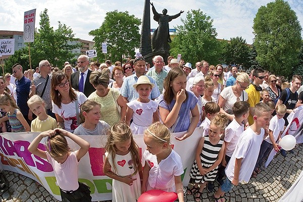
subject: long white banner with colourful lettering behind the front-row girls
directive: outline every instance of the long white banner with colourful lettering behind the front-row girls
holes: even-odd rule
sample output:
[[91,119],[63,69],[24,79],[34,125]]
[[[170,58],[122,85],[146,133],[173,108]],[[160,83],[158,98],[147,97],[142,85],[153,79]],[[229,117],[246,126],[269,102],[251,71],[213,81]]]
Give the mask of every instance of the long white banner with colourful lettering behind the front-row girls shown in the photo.
[[[45,159],[41,159],[29,153],[30,142],[38,135],[37,132],[28,133],[2,133],[0,134],[1,167],[30,177],[39,182],[45,189],[58,200],[61,199],[59,187],[53,167]],[[202,128],[196,128],[194,133],[183,141],[178,141],[175,136],[181,137],[184,132],[173,133],[171,144],[173,149],[180,155],[184,174],[183,185],[187,186],[189,173],[195,158],[195,149],[202,135]],[[88,153],[79,162],[78,179],[90,187],[92,201],[112,199],[112,179],[103,173],[105,145],[107,136],[80,135],[90,143]],[[140,147],[141,157],[146,148],[143,135],[133,135],[134,140]],[[79,146],[67,138],[69,146],[73,150]],[[45,150],[45,139],[39,144],[39,148]],[[144,160],[142,159],[144,165]]]

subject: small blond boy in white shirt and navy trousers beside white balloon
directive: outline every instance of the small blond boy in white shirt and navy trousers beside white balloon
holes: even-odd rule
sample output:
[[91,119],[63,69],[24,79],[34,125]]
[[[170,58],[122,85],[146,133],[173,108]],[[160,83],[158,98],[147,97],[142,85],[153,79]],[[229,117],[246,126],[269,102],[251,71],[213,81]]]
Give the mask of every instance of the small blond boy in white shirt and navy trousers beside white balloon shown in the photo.
[[276,141],[277,139],[281,140],[285,122],[283,117],[286,113],[286,110],[287,108],[284,104],[278,105],[276,108],[277,114],[269,122],[269,136],[267,136],[261,144],[260,153],[256,164],[257,172],[260,171],[260,168],[262,170],[265,170],[265,160],[273,148],[276,151],[279,151]]

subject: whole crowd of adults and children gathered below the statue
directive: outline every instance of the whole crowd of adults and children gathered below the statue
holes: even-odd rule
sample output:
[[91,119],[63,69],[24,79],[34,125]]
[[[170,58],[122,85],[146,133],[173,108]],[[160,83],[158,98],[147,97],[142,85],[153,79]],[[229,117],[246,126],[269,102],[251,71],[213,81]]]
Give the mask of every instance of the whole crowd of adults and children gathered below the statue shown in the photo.
[[[179,201],[184,190],[200,201],[205,187],[214,191],[215,180],[214,198],[225,201],[225,192],[265,170],[272,149],[287,155],[278,140],[287,116],[303,105],[302,78],[293,75],[288,83],[262,68],[246,73],[214,65],[200,61],[192,69],[173,56],[167,65],[161,56],[153,64],[138,56],[112,65],[90,63],[86,55],[63,70],[47,60],[35,72],[15,64],[12,76],[0,77],[0,130],[41,132],[28,149],[52,164],[62,197],[71,201],[80,193],[79,201],[91,200],[88,187],[77,183],[78,162],[89,148],[77,135],[108,135],[104,173],[113,178],[113,201],[136,201],[150,189],[175,191]],[[176,137],[182,141],[196,127],[203,133],[190,171],[193,186],[183,189],[170,136],[184,132]],[[145,165],[132,134],[144,134]],[[46,153],[37,148],[43,137]],[[69,151],[65,137],[80,149]]]

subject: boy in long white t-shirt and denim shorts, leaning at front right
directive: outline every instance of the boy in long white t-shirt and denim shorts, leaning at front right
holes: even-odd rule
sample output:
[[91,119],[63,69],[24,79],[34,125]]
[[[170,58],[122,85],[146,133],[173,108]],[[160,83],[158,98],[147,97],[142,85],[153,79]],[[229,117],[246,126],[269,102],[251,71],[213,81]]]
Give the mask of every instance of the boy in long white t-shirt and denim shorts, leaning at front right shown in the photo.
[[240,181],[249,181],[264,138],[263,128],[269,125],[270,111],[270,107],[264,103],[258,103],[255,106],[252,112],[254,123],[240,135],[234,153],[225,170],[226,179],[214,194],[216,201],[225,201],[225,192],[230,191]]

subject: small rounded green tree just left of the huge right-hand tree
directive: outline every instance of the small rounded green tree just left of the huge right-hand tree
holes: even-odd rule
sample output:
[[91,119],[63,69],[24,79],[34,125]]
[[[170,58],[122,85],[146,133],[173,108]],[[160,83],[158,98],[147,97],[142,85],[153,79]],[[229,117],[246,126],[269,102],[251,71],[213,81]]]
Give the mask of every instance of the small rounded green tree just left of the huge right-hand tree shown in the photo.
[[240,37],[231,38],[223,49],[226,64],[242,65],[249,68],[249,46],[246,40]]

